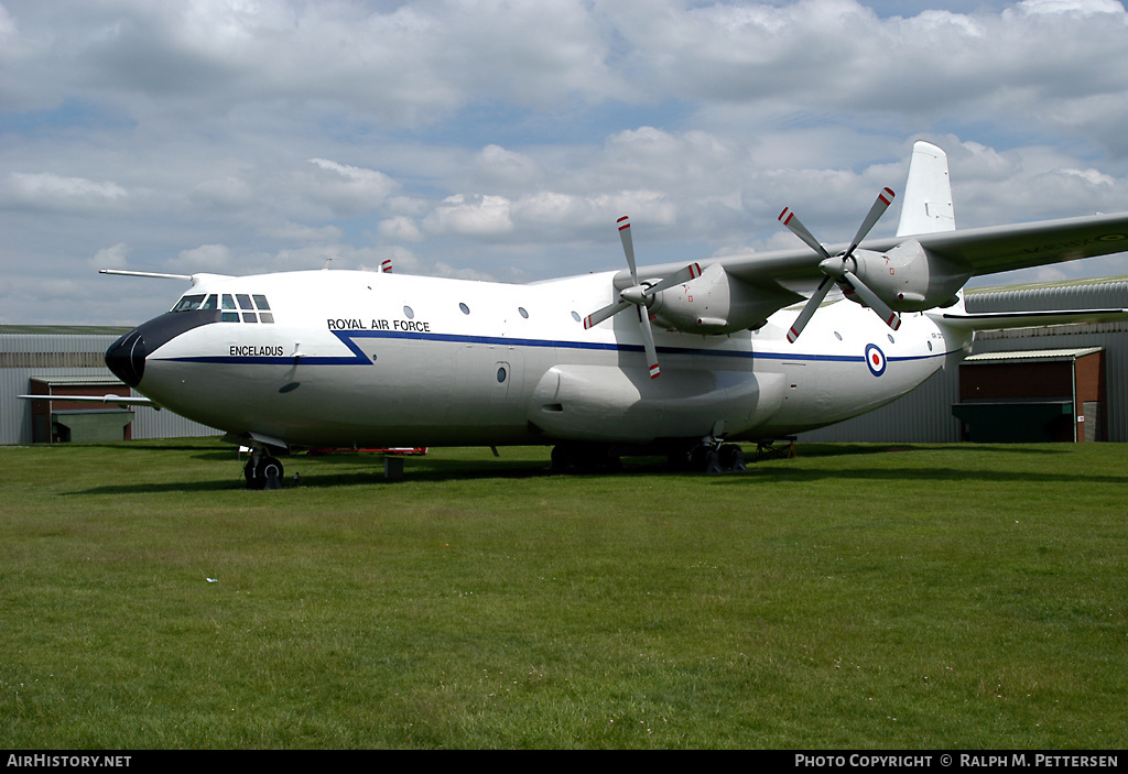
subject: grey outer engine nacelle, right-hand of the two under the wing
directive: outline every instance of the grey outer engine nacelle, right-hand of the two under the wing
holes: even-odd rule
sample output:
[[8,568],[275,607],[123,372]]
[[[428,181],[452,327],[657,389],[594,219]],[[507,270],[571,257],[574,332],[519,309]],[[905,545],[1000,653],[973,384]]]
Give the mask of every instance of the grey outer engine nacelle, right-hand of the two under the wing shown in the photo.
[[[856,250],[854,274],[878,297],[898,312],[923,312],[950,305],[957,291],[971,277],[915,239],[901,242],[889,252]],[[853,294],[847,294],[857,301]]]

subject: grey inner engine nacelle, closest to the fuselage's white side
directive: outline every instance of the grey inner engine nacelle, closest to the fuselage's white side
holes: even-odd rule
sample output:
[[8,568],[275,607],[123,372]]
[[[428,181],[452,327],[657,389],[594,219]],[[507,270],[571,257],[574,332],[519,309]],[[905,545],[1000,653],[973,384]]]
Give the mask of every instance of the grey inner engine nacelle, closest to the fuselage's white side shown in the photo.
[[759,328],[790,302],[791,297],[754,288],[713,264],[696,279],[658,293],[650,313],[659,324],[685,333],[733,333]]

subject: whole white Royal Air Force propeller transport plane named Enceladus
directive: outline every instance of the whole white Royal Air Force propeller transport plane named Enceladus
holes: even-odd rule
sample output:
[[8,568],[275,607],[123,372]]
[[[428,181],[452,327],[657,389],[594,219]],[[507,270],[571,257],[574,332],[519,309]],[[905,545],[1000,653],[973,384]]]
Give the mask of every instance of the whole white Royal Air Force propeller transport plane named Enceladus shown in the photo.
[[897,235],[863,243],[893,197],[879,194],[846,246],[823,247],[784,210],[804,244],[688,265],[636,266],[622,219],[625,270],[527,285],[184,276],[191,290],[106,364],[148,397],[131,402],[248,446],[253,488],[280,478],[277,456],[293,447],[553,445],[554,466],[661,450],[739,469],[732,442],[888,403],[958,362],[976,329],[1123,314],[969,314],[960,290],[1123,251],[1128,213],[955,231],[948,158],[924,142]]

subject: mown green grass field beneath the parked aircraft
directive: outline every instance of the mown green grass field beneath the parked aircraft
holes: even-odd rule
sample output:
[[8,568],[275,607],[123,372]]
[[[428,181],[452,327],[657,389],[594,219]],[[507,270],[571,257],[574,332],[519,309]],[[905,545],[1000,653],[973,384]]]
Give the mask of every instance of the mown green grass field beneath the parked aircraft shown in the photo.
[[0,747],[1128,748],[1128,445],[797,451],[0,447]]

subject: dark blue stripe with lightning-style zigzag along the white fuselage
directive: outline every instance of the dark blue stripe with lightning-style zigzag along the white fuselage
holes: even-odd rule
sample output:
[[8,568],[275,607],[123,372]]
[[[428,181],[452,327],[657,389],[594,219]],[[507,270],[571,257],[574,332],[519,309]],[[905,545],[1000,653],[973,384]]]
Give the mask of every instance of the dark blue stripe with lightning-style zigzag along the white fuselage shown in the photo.
[[[351,356],[312,356],[303,355],[300,358],[301,365],[371,365],[372,361],[361,350],[355,339],[412,339],[416,341],[443,341],[448,344],[484,344],[506,347],[538,347],[556,349],[589,349],[601,352],[629,352],[642,353],[645,348],[641,344],[603,344],[600,341],[561,341],[549,339],[511,339],[497,336],[460,336],[456,333],[417,333],[406,331],[388,330],[334,330],[334,336],[349,347]],[[818,362],[818,363],[864,363],[865,353],[858,355],[810,355],[786,352],[751,352],[740,349],[703,349],[696,347],[658,347],[660,355],[693,355],[706,357],[734,357],[763,361],[792,361],[792,362]],[[934,357],[945,357],[949,353],[929,353],[927,355],[889,356],[890,363],[927,361]],[[210,363],[210,364],[236,364],[236,365],[292,365],[293,355],[258,356],[258,355],[201,355],[187,357],[155,358],[167,359],[174,363]]]

